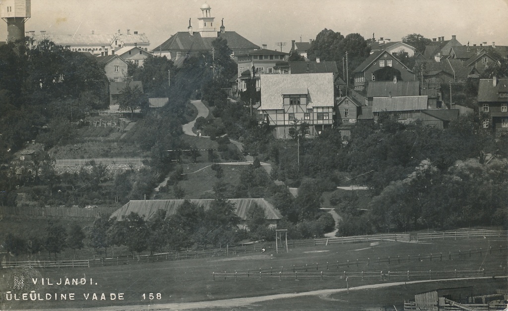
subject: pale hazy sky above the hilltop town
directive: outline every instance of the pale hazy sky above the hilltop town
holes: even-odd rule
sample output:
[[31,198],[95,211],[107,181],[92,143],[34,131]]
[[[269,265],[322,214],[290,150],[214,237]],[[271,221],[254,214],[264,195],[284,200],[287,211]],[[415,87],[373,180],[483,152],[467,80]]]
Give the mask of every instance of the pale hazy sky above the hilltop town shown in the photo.
[[[308,42],[324,28],[364,38],[400,41],[409,33],[432,39],[452,35],[470,42],[508,45],[508,0],[207,0],[211,15],[226,31],[236,31],[252,43],[289,52],[291,41]],[[25,31],[112,34],[118,29],[145,33],[155,48],[189,18],[198,26],[205,0],[31,0]],[[7,39],[7,24],[0,24]]]

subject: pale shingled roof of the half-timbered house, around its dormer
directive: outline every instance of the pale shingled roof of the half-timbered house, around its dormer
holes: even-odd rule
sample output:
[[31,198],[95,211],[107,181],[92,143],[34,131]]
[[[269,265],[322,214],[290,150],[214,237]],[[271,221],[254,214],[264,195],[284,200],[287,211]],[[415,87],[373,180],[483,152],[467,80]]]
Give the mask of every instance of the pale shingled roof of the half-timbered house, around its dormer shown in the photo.
[[334,84],[332,73],[297,75],[260,75],[261,107],[283,109],[282,91],[286,88],[307,89],[307,108],[333,107]]

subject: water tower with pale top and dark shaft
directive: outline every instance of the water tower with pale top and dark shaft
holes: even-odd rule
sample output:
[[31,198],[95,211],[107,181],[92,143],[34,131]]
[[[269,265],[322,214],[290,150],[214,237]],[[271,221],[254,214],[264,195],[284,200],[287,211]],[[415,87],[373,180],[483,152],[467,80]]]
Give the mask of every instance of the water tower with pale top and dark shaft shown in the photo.
[[25,37],[25,21],[30,18],[30,0],[2,0],[0,17],[7,22],[7,41]]

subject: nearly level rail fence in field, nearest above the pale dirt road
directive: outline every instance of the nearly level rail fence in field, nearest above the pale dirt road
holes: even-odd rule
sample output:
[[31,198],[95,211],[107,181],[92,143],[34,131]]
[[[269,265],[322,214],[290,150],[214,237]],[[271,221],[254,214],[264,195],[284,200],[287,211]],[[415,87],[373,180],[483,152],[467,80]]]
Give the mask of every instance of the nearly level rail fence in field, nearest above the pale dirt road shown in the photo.
[[435,280],[456,278],[481,278],[504,276],[505,269],[492,270],[428,270],[428,271],[361,271],[361,272],[298,272],[298,271],[251,271],[251,272],[212,272],[213,281],[234,279],[266,279],[277,278],[281,280],[379,280],[379,281],[403,281],[403,280]]

